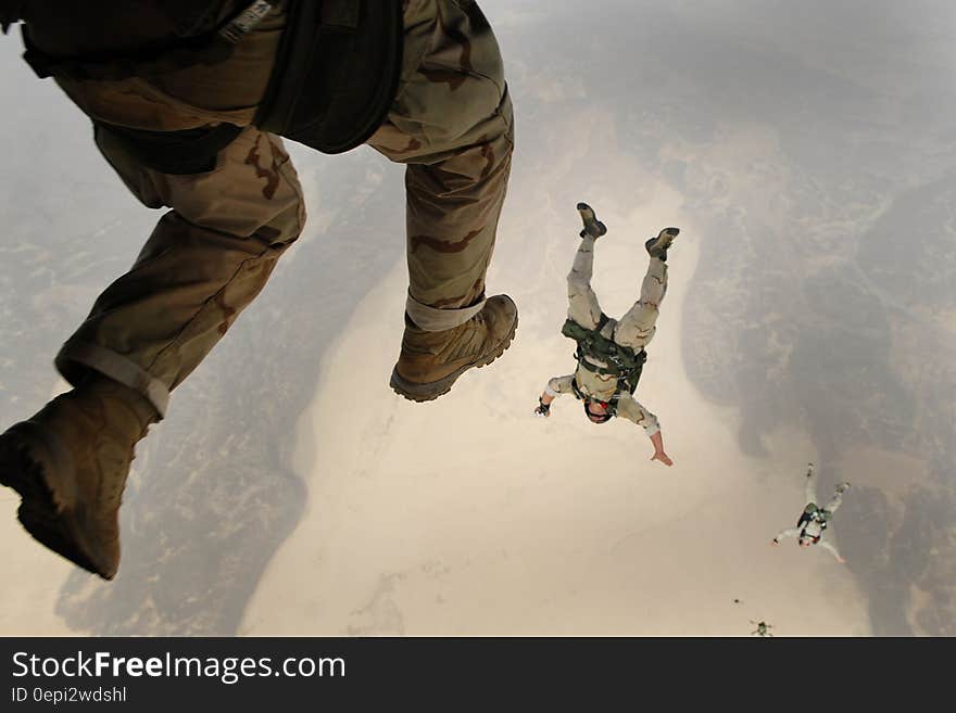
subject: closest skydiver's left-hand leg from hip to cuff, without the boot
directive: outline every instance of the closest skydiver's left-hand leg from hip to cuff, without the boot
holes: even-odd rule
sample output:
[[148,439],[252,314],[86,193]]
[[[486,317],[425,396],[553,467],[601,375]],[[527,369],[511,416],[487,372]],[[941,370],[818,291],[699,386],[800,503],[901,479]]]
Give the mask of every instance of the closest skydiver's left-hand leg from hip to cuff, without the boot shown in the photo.
[[[109,18],[74,13],[64,22],[42,3],[30,10],[38,41],[142,36],[128,13]],[[89,116],[104,125],[151,132],[250,124],[272,74],[286,25],[285,3],[237,43],[224,62],[196,64],[155,77],[116,81],[59,78]],[[97,31],[92,31],[96,29]],[[93,40],[84,40],[93,41]],[[100,40],[97,40],[100,41]],[[42,49],[70,54],[67,47]],[[77,383],[100,372],[146,395],[162,413],[179,384],[265,284],[276,259],[304,221],[302,193],[281,141],[246,128],[218,152],[214,169],[168,175],[143,165],[115,133],[97,130],[97,143],[126,186],[147,206],[172,208],[159,222],[129,272],[97,300],[86,322],[64,345],[56,365]]]

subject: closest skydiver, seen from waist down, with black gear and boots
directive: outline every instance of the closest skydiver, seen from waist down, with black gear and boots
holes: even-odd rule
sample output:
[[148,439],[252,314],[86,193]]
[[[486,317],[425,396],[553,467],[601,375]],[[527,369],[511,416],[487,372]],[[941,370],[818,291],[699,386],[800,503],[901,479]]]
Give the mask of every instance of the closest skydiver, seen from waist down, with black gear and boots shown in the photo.
[[[394,391],[431,400],[507,348],[517,308],[486,298],[485,277],[512,102],[478,3],[0,0],[3,31],[18,21],[33,69],[90,117],[136,198],[167,208],[60,349],[73,389],[0,435],[0,483],[20,494],[20,520],[40,543],[116,574],[137,442],[302,232],[303,191],[280,136],[330,154],[367,143],[406,167]],[[33,151],[9,138],[7,152]]]

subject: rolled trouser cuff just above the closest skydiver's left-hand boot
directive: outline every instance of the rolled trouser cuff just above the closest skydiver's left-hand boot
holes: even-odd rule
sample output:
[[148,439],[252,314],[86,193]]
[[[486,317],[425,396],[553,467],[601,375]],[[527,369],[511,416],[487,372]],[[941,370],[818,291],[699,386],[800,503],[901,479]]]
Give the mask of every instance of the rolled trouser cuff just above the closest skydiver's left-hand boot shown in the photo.
[[92,342],[71,340],[63,345],[53,361],[58,371],[74,386],[92,369],[124,386],[142,394],[156,409],[160,419],[169,406],[169,390],[126,357]]

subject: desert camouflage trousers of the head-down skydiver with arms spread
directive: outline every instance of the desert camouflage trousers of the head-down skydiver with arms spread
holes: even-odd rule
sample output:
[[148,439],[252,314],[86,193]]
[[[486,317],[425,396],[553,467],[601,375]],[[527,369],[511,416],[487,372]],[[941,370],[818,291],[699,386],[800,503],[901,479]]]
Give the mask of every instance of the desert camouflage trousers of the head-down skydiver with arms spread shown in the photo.
[[[591,288],[591,276],[594,270],[594,239],[581,239],[571,271],[568,272],[568,318],[586,329],[594,329],[601,320],[601,305],[598,295]],[[641,296],[627,310],[624,317],[615,322],[608,320],[604,330],[608,339],[621,346],[634,351],[645,347],[656,331],[661,303],[667,294],[667,264],[652,257],[641,282]]]

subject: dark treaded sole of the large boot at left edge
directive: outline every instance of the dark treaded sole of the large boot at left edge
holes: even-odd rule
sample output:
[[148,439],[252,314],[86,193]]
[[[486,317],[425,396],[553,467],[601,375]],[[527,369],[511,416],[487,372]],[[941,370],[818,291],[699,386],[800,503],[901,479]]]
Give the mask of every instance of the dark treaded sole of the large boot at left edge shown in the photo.
[[28,435],[21,443],[13,443],[11,431],[27,430],[24,426],[29,425],[17,424],[0,437],[0,484],[13,488],[22,498],[17,520],[45,547],[92,574],[112,580],[115,571],[96,564],[93,549],[71,511],[56,506],[46,469],[27,455]]

